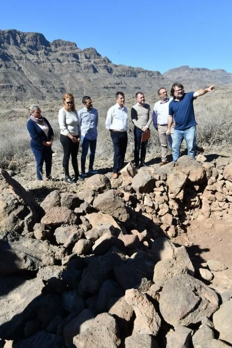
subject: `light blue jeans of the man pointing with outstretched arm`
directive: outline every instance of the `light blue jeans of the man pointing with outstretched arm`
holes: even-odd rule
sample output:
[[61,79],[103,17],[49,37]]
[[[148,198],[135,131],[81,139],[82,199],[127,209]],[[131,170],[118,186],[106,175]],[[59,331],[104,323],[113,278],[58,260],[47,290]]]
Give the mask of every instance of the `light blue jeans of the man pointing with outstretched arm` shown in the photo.
[[186,142],[188,156],[195,159],[195,132],[196,126],[190,127],[185,130],[174,129],[172,140],[172,161],[176,162],[180,157],[180,146],[183,139]]

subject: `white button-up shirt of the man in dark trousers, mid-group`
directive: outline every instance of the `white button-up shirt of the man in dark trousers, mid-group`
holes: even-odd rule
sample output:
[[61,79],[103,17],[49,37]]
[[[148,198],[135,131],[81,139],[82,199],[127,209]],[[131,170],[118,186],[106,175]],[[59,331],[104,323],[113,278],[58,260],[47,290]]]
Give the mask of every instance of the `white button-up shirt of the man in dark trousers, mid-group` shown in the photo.
[[107,112],[105,127],[108,130],[116,130],[118,132],[127,131],[127,108],[123,106],[122,108],[118,103],[111,106]]

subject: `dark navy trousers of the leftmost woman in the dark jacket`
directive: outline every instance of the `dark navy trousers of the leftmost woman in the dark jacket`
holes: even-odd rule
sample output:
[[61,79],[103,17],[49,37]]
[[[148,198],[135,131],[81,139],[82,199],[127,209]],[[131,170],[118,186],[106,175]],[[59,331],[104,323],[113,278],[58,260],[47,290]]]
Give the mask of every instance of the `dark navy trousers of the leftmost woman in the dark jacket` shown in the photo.
[[38,180],[43,179],[43,164],[45,162],[46,177],[51,177],[52,172],[52,148],[44,146],[42,150],[32,149],[36,160],[36,174]]

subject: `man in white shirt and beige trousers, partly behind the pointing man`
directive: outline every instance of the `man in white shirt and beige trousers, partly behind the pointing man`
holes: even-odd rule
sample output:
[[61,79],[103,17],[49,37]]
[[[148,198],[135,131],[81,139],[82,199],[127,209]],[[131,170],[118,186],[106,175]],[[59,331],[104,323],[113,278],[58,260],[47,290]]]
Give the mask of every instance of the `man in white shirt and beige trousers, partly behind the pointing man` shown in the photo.
[[[153,110],[153,124],[155,129],[158,131],[159,141],[161,145],[161,162],[160,166],[167,163],[167,146],[171,148],[172,145],[172,134],[174,131],[174,123],[170,128],[170,135],[167,136],[167,119],[168,119],[168,107],[172,99],[168,98],[166,88],[161,87],[158,89],[158,96],[160,98],[154,105]],[[168,137],[168,139],[167,139]]]

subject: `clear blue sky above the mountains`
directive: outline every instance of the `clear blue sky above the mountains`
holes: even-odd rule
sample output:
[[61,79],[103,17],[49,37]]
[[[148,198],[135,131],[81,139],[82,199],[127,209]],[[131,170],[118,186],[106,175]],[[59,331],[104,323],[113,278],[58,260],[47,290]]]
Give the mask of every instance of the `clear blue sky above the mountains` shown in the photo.
[[94,47],[115,64],[232,73],[232,0],[1,0],[0,29]]

